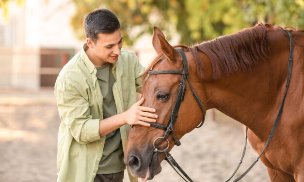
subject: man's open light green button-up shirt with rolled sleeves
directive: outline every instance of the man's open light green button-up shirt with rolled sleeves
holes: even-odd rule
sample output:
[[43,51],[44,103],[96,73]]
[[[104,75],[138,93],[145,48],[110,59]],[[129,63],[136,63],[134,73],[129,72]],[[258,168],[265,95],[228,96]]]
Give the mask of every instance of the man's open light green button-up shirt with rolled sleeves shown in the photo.
[[[60,72],[55,83],[55,96],[61,119],[58,133],[58,182],[93,182],[102,156],[106,136],[99,136],[99,120],[103,119],[103,96],[96,77],[96,68],[81,51]],[[116,79],[113,96],[117,113],[136,102],[136,91],[142,87],[144,67],[135,54],[121,49],[113,64]],[[119,128],[123,151],[130,125]],[[129,171],[131,182],[137,182]]]

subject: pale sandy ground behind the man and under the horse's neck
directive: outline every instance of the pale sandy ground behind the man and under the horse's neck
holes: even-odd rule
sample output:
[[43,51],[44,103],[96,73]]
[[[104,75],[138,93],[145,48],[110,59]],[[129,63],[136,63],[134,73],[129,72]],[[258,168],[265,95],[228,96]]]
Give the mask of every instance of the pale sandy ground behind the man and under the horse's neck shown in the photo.
[[[0,90],[0,182],[55,182],[60,119],[52,90]],[[194,182],[224,182],[244,145],[241,124],[216,112],[181,139],[172,155]],[[239,176],[256,159],[248,146]],[[125,178],[124,182],[128,182]],[[182,182],[166,163],[151,182]],[[259,161],[240,182],[270,182]]]

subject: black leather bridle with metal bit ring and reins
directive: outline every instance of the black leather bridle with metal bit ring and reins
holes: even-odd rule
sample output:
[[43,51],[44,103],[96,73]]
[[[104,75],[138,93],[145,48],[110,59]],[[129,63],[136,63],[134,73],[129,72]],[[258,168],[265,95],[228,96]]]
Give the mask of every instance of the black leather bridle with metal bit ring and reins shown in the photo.
[[[280,116],[282,114],[282,110],[283,110],[283,106],[284,106],[284,102],[285,102],[285,97],[286,97],[286,93],[287,93],[287,89],[288,89],[288,85],[289,85],[289,80],[290,80],[290,75],[291,75],[291,67],[292,67],[292,61],[293,61],[293,39],[292,39],[292,36],[291,34],[288,32],[288,30],[284,30],[287,32],[288,36],[289,36],[289,40],[290,40],[290,50],[289,50],[289,59],[288,59],[288,74],[287,74],[287,83],[286,83],[286,89],[285,89],[285,93],[284,93],[284,97],[283,97],[283,100],[282,100],[282,103],[281,103],[281,106],[279,108],[279,112],[276,116],[276,119],[273,123],[273,126],[272,126],[272,131],[271,131],[271,134],[269,135],[268,137],[268,140],[266,142],[266,145],[263,149],[263,151],[260,153],[260,155],[257,157],[257,159],[254,161],[254,163],[242,174],[240,175],[240,177],[238,177],[237,179],[234,180],[234,182],[237,182],[239,181],[242,177],[244,177],[249,171],[250,169],[256,164],[256,162],[259,160],[259,158],[261,157],[261,155],[263,154],[263,152],[266,150],[267,146],[269,145],[271,139],[272,139],[272,136],[273,136],[273,133],[276,129],[276,126],[278,124],[278,121],[280,119]],[[180,84],[178,86],[178,90],[177,90],[177,96],[176,96],[176,101],[175,101],[175,104],[174,104],[174,107],[172,109],[172,112],[171,112],[171,117],[167,123],[167,125],[163,125],[163,124],[159,124],[159,123],[154,123],[154,122],[148,122],[150,123],[151,126],[153,127],[156,127],[156,128],[160,128],[162,130],[165,131],[165,134],[164,136],[160,136],[160,137],[157,137],[154,142],[153,142],[153,147],[154,147],[154,152],[164,152],[166,157],[165,157],[165,160],[171,165],[171,167],[173,167],[173,169],[177,172],[176,168],[184,175],[185,178],[187,178],[190,182],[193,182],[192,179],[186,174],[186,172],[181,168],[179,167],[179,165],[177,164],[177,162],[174,160],[174,158],[172,157],[172,155],[167,151],[167,149],[169,148],[170,146],[170,143],[169,143],[169,140],[168,140],[168,136],[171,135],[175,141],[175,144],[177,146],[180,145],[180,141],[179,139],[173,134],[173,131],[174,131],[174,124],[176,122],[176,118],[177,118],[177,114],[178,114],[178,110],[179,110],[179,107],[181,105],[181,102],[184,100],[184,96],[185,96],[185,92],[186,92],[186,80],[188,81],[189,83],[189,86],[191,88],[191,91],[193,93],[193,96],[195,98],[195,100],[197,101],[202,113],[203,113],[203,120],[202,122],[199,124],[198,127],[201,127],[203,124],[204,124],[204,121],[205,121],[205,113],[204,113],[204,110],[203,110],[203,107],[205,107],[205,105],[202,103],[202,101],[200,100],[200,98],[197,96],[197,94],[195,93],[195,91],[193,90],[192,88],[192,85],[191,85],[191,82],[190,82],[190,79],[189,79],[189,73],[188,73],[188,62],[187,62],[187,58],[185,56],[185,53],[179,49],[179,48],[176,48],[176,50],[181,54],[182,56],[182,59],[183,59],[183,71],[177,71],[177,70],[157,70],[157,71],[152,71],[152,70],[149,70],[148,73],[149,75],[158,75],[158,74],[179,74],[179,75],[182,75],[182,78],[181,78],[181,81],[180,81]],[[197,128],[198,128],[197,127]],[[235,173],[237,172],[237,170],[239,169],[240,167],[240,164],[242,163],[242,160],[243,160],[243,157],[245,155],[245,151],[246,151],[246,145],[247,145],[247,131],[248,131],[248,128],[246,127],[246,137],[245,137],[245,146],[244,146],[244,149],[243,149],[243,154],[241,156],[241,159],[240,159],[240,162],[239,162],[239,165],[238,167],[235,169],[235,171],[233,172],[233,174],[229,177],[228,180],[226,180],[225,182],[228,182],[232,179],[232,177],[235,175]],[[163,149],[163,150],[159,150],[158,148],[155,147],[155,142],[156,140],[158,139],[163,139],[163,140],[166,140],[168,142],[168,146],[167,148]],[[176,167],[176,168],[175,168]],[[183,178],[181,176],[181,174],[179,174],[177,172],[177,174],[183,179],[186,181],[185,178]],[[187,181],[186,181],[187,182]]]

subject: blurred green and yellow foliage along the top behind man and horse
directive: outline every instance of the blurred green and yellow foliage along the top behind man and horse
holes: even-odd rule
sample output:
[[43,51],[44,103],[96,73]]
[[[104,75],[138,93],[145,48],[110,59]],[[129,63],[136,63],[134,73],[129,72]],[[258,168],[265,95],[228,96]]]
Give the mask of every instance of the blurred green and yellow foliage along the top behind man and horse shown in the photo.
[[142,34],[163,30],[168,39],[181,35],[181,44],[191,45],[231,34],[257,22],[304,27],[303,0],[73,0],[77,11],[71,24],[77,37],[85,38],[84,16],[108,8],[121,22],[124,43],[132,45]]

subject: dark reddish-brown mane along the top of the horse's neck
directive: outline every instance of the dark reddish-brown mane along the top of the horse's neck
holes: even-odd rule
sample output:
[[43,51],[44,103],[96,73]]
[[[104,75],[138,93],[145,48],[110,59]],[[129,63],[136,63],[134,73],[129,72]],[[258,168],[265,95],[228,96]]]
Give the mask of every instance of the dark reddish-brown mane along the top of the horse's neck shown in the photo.
[[199,61],[197,51],[205,53],[210,59],[215,79],[237,71],[251,70],[267,58],[270,50],[266,33],[267,30],[276,29],[283,30],[271,24],[258,23],[253,28],[189,47],[196,60],[198,75],[203,78],[202,62]]

